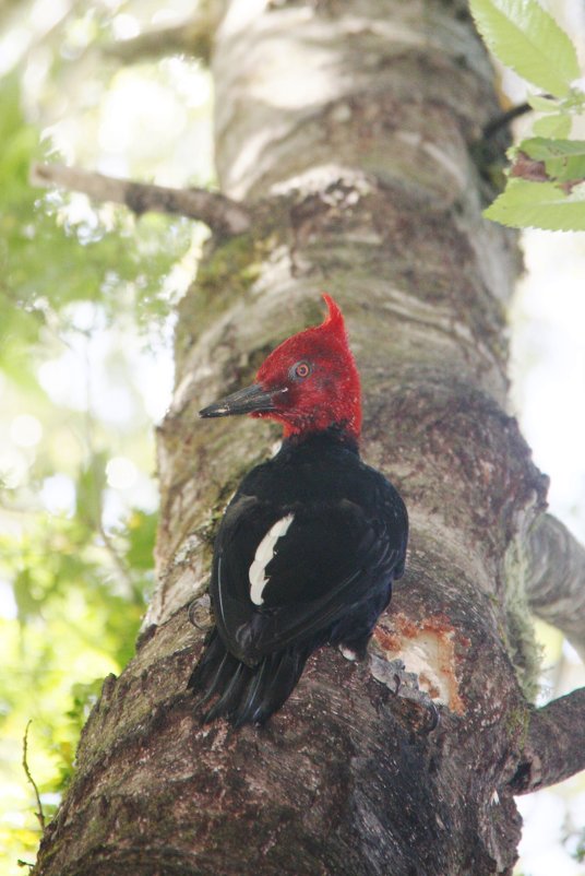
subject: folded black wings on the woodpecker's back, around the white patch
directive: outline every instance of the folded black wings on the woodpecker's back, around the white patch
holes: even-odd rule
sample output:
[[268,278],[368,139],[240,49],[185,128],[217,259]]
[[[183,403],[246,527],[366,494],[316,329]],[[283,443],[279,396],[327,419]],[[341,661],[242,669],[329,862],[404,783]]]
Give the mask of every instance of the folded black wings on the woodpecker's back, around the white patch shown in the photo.
[[[283,506],[235,497],[218,533],[211,585],[219,635],[235,656],[255,665],[290,644],[312,650],[370,635],[406,548],[404,506],[378,477],[392,494],[375,490],[367,507],[345,498]],[[264,559],[272,558],[253,600],[256,551],[284,519],[286,532],[264,549]]]

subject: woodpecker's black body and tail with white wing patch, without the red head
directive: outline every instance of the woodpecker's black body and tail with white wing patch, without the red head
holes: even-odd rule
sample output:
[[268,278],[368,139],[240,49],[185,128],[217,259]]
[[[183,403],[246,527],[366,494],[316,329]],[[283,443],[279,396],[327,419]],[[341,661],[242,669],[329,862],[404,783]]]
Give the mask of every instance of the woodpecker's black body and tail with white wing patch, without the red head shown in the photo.
[[216,627],[189,682],[202,719],[263,723],[317,648],[360,655],[404,571],[407,535],[402,498],[351,437],[286,439],[244,477],[217,533]]

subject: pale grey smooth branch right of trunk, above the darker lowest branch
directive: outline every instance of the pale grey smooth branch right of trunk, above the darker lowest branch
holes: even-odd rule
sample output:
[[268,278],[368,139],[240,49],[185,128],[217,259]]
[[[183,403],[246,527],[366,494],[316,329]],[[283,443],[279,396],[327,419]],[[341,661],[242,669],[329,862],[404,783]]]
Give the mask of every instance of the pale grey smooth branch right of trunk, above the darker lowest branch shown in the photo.
[[532,611],[564,632],[585,661],[585,547],[551,514],[528,534]]

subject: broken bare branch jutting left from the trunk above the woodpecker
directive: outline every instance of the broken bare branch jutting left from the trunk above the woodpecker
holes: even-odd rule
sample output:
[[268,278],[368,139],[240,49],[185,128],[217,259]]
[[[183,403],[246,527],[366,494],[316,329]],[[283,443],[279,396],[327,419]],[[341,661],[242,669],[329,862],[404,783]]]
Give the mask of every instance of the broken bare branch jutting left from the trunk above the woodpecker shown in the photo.
[[206,189],[170,189],[148,182],[117,179],[62,164],[34,164],[33,186],[61,186],[82,191],[96,201],[126,204],[136,215],[154,210],[204,222],[218,236],[230,237],[248,230],[249,211],[237,201]]

